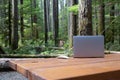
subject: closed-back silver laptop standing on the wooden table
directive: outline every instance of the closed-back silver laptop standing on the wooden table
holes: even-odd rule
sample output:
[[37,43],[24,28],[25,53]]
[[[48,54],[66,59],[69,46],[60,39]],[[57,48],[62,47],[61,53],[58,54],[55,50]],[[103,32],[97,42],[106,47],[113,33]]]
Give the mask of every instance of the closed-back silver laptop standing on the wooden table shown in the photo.
[[73,36],[74,57],[104,57],[103,36]]

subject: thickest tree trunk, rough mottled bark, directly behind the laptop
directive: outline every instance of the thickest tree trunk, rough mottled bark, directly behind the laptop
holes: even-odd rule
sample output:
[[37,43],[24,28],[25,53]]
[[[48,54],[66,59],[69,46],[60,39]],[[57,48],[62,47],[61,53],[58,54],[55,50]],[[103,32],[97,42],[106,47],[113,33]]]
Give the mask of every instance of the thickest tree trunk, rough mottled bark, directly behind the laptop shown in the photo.
[[79,34],[92,35],[92,0],[79,1]]

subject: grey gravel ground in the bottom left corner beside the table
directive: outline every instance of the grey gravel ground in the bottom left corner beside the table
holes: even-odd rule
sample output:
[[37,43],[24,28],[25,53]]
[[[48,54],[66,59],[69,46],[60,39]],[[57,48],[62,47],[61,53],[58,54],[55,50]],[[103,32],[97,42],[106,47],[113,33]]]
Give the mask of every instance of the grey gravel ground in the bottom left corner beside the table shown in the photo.
[[28,80],[16,71],[0,72],[0,80]]

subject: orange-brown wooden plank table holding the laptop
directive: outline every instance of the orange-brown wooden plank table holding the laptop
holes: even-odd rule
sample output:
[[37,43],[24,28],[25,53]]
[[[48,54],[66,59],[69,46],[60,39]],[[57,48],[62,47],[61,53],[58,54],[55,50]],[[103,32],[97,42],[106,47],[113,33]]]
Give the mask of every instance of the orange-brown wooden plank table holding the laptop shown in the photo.
[[104,58],[34,58],[10,60],[29,80],[120,80],[120,54]]

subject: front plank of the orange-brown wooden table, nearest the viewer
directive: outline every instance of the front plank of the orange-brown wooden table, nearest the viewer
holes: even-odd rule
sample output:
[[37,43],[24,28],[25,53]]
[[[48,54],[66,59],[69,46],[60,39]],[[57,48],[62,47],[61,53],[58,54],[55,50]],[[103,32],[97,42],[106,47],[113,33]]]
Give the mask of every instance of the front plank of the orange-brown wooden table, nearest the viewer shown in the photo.
[[40,80],[40,79],[58,80],[58,79],[78,78],[78,77],[80,79],[82,76],[96,75],[96,74],[101,75],[103,73],[112,72],[112,71],[115,72],[119,70],[120,70],[120,61],[117,64],[114,64],[114,62],[109,62],[109,63],[95,63],[94,65],[86,64],[83,66],[74,65],[74,66],[63,66],[63,67],[61,66],[54,68],[32,69],[29,70],[30,72],[29,74],[32,74],[31,75],[32,77],[30,76],[31,80]]

